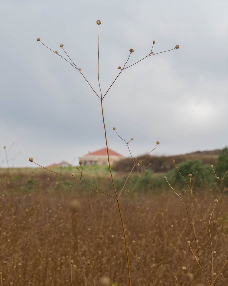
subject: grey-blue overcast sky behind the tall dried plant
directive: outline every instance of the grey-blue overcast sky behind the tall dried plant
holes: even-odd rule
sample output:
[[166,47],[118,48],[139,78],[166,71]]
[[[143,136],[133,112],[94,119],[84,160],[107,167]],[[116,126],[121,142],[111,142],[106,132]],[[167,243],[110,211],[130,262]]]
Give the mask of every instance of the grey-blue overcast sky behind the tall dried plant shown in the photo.
[[[109,147],[128,156],[156,145],[154,155],[213,150],[227,145],[227,1],[1,1],[1,152],[10,166],[76,164],[105,147],[101,106],[80,73],[36,41],[63,52],[98,92]],[[1,153],[1,162],[4,152]],[[3,164],[2,166],[6,166]]]

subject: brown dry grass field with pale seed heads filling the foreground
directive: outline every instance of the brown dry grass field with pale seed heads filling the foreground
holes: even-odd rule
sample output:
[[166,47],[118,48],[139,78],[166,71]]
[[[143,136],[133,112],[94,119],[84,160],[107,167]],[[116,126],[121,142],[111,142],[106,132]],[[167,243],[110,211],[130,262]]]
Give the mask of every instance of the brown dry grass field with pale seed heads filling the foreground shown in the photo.
[[[96,180],[99,184],[101,178]],[[104,176],[102,186],[112,194],[109,178]],[[200,204],[211,186],[202,183],[193,187]],[[131,196],[127,189],[120,205],[130,250],[132,285],[209,285],[187,244],[191,241],[196,253],[194,235],[180,198],[168,185],[144,194],[136,188]],[[176,190],[181,192],[181,186],[176,186]],[[202,208],[209,236],[209,218],[214,200],[218,199],[210,223],[216,274],[227,261],[226,192],[220,180]],[[185,195],[192,222],[191,194],[187,188]],[[11,170],[10,184],[7,170],[2,169],[0,208],[1,285],[128,284],[123,229],[112,198],[90,186],[85,188],[82,182],[40,168]],[[196,202],[194,220],[200,265],[212,285],[211,250]],[[216,230],[222,237],[217,235],[213,220],[217,220]],[[170,225],[174,228],[170,229]],[[227,265],[223,271],[226,269]],[[109,277],[110,282],[105,282],[104,277]],[[227,283],[226,271],[214,285]]]

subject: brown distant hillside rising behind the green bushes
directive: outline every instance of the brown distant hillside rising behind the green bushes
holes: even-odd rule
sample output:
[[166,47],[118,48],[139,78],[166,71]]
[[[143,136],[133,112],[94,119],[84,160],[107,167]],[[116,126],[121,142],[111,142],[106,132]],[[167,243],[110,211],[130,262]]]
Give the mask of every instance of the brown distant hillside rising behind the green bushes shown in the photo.
[[[203,164],[216,164],[220,149],[212,150],[212,151],[196,151],[183,155],[173,155],[173,156],[148,156],[146,160],[143,161],[143,165],[147,166],[151,164],[150,168],[154,170],[154,172],[168,172],[170,171],[174,165],[172,164],[172,159],[176,160],[176,163],[184,162],[187,160],[196,160],[200,159]],[[143,154],[141,156],[135,157],[135,162],[139,162],[146,157],[147,154]],[[117,162],[113,166],[113,170],[115,171],[130,171],[132,168],[132,158],[126,158],[119,162]]]

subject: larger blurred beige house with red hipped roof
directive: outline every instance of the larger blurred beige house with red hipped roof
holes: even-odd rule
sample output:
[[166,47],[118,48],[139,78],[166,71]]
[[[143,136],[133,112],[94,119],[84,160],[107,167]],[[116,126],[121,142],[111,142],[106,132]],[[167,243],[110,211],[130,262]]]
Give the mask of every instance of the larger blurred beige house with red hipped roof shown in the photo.
[[[125,157],[121,154],[109,149],[109,160],[110,164],[117,162]],[[79,158],[82,160],[83,164],[88,165],[108,165],[108,154],[107,148],[102,148],[95,152],[89,152],[88,154],[84,155],[83,157]]]

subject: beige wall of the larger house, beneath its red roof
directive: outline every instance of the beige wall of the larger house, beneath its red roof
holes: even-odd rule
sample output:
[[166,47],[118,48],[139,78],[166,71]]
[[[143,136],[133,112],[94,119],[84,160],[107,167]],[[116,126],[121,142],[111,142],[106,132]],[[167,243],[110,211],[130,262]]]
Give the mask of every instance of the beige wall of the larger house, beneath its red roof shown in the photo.
[[[114,162],[117,162],[124,157],[121,156],[109,156],[110,164],[113,164]],[[83,164],[85,166],[89,165],[108,165],[108,157],[107,156],[101,156],[101,155],[87,155],[84,157],[79,158],[82,160]]]

